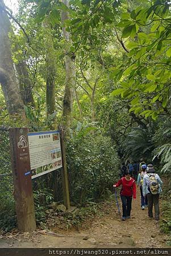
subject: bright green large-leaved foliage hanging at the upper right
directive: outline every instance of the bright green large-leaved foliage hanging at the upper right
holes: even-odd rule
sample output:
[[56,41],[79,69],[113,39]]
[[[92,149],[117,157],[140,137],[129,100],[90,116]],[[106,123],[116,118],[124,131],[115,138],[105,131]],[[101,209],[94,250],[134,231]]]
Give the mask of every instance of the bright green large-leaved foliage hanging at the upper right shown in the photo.
[[123,13],[118,23],[123,27],[122,37],[129,37],[130,52],[126,65],[120,64],[123,82],[111,95],[135,98],[130,111],[156,120],[170,105],[170,11],[162,1],[143,4],[145,8],[137,7],[131,15]]

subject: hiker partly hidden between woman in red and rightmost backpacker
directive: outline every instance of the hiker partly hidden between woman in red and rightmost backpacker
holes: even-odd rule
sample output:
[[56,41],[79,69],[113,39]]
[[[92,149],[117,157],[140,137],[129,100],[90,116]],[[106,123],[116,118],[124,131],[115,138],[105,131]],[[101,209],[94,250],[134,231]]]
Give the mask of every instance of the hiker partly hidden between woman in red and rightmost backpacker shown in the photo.
[[147,166],[143,164],[141,166],[141,173],[137,176],[137,187],[140,187],[141,193],[141,209],[144,210],[145,207],[148,207],[148,200],[147,200],[147,191],[145,192],[145,197],[143,196],[143,178],[146,172]]

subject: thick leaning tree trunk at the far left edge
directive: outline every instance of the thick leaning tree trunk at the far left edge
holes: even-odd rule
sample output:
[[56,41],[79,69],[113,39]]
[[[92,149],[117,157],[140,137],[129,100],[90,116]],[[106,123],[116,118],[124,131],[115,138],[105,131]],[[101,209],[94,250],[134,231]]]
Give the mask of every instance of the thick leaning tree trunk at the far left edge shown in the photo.
[[24,105],[16,83],[8,36],[10,20],[3,9],[4,3],[3,0],[0,0],[0,83],[9,114],[17,114],[20,117],[24,117]]

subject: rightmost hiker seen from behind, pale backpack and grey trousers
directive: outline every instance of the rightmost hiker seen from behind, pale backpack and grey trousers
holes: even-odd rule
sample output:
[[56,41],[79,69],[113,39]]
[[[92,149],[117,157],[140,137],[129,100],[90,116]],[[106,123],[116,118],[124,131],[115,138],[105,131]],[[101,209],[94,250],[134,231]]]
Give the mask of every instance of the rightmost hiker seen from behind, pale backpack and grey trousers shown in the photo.
[[155,220],[159,220],[159,195],[161,193],[162,181],[158,174],[155,173],[155,169],[152,164],[147,166],[147,174],[143,179],[143,195],[147,194],[148,199],[148,216],[153,217],[153,204],[155,207]]

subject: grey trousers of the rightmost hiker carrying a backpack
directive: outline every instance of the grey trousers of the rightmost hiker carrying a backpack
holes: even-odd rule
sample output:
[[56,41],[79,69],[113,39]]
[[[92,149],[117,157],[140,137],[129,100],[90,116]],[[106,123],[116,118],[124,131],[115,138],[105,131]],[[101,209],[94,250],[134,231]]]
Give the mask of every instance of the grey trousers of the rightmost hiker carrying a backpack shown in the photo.
[[155,218],[159,220],[159,194],[152,195],[151,193],[147,194],[148,199],[148,216],[153,217],[153,204],[155,207]]

